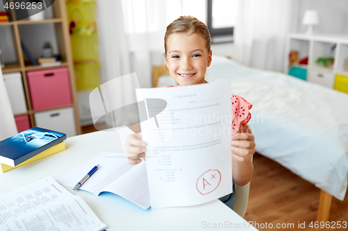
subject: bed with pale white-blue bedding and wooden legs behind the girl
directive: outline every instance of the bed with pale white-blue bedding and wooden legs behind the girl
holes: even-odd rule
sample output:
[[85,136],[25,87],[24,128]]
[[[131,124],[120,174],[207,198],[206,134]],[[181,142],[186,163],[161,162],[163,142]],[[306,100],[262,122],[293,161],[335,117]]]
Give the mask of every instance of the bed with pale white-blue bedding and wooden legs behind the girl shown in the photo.
[[[153,70],[154,86],[175,84],[166,67]],[[317,220],[328,221],[332,196],[347,191],[348,94],[213,56],[206,80],[226,79],[253,104],[255,151],[321,189]]]

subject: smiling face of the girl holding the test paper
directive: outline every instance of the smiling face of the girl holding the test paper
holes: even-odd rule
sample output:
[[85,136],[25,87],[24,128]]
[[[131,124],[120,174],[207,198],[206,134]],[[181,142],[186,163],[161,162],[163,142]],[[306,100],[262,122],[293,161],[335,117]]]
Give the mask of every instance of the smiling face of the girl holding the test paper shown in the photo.
[[167,40],[166,65],[169,74],[181,86],[205,83],[205,72],[212,63],[202,35],[173,33]]

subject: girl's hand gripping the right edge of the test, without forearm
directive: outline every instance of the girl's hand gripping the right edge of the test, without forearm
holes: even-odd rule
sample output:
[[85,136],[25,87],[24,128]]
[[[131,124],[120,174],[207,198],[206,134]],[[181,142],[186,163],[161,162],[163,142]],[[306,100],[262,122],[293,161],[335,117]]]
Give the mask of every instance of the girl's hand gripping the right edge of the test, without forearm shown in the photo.
[[254,135],[249,132],[232,135],[231,150],[235,160],[250,161],[255,153]]

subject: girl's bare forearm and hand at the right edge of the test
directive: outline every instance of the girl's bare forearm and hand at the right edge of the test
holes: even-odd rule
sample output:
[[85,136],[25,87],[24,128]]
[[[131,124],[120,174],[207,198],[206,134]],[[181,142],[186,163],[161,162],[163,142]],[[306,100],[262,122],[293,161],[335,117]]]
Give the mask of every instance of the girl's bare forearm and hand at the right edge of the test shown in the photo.
[[[250,126],[243,126],[242,133],[232,135],[232,176],[240,185],[246,185],[253,176],[253,154],[255,153],[254,135]],[[241,128],[242,129],[242,128]]]

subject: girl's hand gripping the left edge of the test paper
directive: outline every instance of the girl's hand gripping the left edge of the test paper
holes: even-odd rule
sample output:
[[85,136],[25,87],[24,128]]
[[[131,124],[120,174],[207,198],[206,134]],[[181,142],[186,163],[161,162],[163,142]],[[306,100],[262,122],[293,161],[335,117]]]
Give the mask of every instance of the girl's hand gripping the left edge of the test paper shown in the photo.
[[126,137],[125,153],[128,157],[129,164],[139,164],[141,162],[141,157],[145,160],[145,147],[146,143],[143,142],[141,132]]

